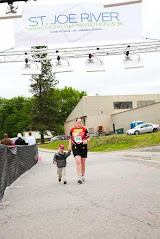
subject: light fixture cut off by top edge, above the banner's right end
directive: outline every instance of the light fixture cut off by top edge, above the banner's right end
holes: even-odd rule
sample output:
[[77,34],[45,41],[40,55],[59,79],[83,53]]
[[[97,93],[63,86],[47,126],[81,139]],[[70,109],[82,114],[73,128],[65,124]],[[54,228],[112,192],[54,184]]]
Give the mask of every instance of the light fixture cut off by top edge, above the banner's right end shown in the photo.
[[104,7],[117,7],[117,6],[141,3],[142,1],[143,0],[106,0],[106,2],[103,4],[103,6]]

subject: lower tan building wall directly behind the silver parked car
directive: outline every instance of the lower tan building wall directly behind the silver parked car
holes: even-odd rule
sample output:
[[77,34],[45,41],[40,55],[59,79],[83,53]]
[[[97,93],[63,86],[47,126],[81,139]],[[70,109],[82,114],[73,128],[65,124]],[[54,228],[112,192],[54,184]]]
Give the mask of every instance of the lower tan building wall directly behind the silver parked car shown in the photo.
[[160,103],[136,108],[126,112],[113,114],[112,123],[115,125],[115,129],[130,129],[130,124],[133,121],[142,121],[144,123],[160,124]]

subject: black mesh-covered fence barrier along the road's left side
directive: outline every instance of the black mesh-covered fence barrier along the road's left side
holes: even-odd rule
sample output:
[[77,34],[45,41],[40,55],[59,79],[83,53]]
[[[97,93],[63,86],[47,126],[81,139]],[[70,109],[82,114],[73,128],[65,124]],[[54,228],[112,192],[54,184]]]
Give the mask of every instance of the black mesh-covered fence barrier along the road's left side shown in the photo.
[[0,144],[0,202],[4,191],[38,161],[37,145],[7,147]]

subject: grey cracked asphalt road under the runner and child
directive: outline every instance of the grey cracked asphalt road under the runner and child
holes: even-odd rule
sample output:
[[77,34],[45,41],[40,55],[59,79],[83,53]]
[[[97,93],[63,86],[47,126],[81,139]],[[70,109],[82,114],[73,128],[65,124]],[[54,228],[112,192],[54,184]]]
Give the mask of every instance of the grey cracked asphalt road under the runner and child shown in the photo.
[[0,238],[160,239],[160,147],[89,153],[82,185],[73,155],[58,182],[54,152],[6,189]]

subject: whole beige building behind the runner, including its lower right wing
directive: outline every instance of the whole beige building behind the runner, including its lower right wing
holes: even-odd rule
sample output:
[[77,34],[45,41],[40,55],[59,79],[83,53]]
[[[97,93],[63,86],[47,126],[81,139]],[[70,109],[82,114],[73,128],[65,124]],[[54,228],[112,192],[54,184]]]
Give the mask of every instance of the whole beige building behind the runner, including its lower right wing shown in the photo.
[[[126,130],[130,128],[131,122],[137,120],[160,123],[160,112],[158,114],[157,110],[154,111],[153,109],[151,111],[150,109],[157,102],[160,102],[159,94],[84,96],[66,119],[65,134],[69,134],[77,117],[82,118],[83,125],[90,133],[103,131],[109,134],[119,128]],[[150,105],[150,107],[145,107],[147,105]],[[130,116],[129,111],[132,112],[133,110],[134,113]],[[125,114],[123,114],[123,117],[121,115],[120,118],[118,113],[122,112],[125,112]],[[142,113],[140,114],[140,112]],[[152,116],[150,112],[152,112]],[[143,115],[144,117],[142,117]]]

